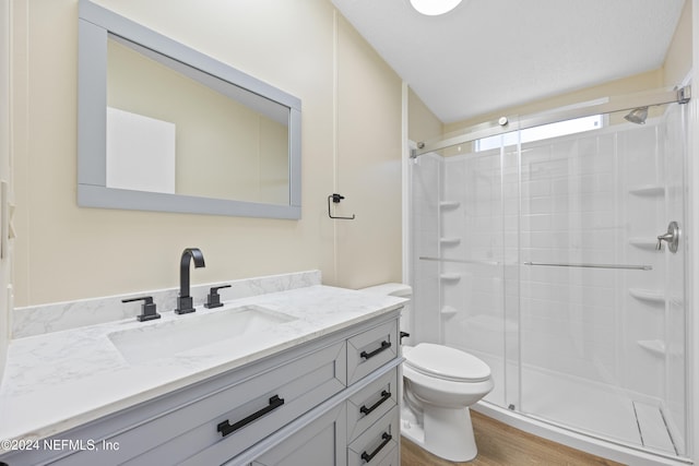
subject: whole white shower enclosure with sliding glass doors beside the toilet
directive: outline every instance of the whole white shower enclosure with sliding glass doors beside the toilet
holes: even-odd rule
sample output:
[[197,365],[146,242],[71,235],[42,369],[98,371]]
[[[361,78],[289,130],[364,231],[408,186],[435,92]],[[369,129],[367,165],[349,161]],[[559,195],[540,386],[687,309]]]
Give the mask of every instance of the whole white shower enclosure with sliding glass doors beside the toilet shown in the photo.
[[632,107],[595,112],[606,104],[415,151],[413,334],[486,361],[486,406],[675,461],[688,433],[687,106],[653,104],[644,122],[624,118]]

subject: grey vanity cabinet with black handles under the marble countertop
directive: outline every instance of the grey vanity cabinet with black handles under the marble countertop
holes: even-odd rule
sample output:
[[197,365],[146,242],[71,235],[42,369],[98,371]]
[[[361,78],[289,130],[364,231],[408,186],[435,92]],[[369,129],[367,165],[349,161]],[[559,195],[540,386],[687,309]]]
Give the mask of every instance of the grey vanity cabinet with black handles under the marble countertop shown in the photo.
[[57,434],[74,442],[62,451],[0,462],[398,466],[398,318],[345,326]]

